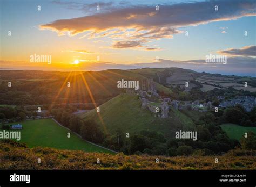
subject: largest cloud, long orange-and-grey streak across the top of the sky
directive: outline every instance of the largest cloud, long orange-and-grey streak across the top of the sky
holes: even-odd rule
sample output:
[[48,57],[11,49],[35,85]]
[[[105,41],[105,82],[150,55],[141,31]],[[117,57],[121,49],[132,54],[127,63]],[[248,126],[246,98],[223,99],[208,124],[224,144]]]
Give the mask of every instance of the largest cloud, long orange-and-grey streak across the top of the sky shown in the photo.
[[[88,6],[91,8],[96,4]],[[107,5],[111,6],[111,3]],[[215,5],[218,5],[218,11],[214,10]],[[114,37],[119,37],[119,40],[128,40],[127,38],[134,40],[133,42],[119,41],[116,45],[131,48],[132,45],[134,47],[141,45],[136,40],[142,38],[147,39],[148,42],[161,38],[172,38],[174,34],[182,33],[178,30],[180,27],[255,16],[255,6],[254,0],[164,4],[159,5],[159,11],[154,5],[120,6],[119,8],[107,9],[107,12],[99,11],[99,13],[89,16],[55,20],[52,23],[40,25],[40,28],[41,30],[55,31],[58,35],[70,32],[70,35],[73,36],[90,32],[89,35],[83,36],[88,38],[94,38],[97,34],[99,37],[113,38],[113,35],[108,34],[113,29],[119,31],[133,30],[134,34],[129,36],[125,32],[114,35]],[[86,8],[86,5],[83,8]],[[111,32],[111,34],[113,33]]]

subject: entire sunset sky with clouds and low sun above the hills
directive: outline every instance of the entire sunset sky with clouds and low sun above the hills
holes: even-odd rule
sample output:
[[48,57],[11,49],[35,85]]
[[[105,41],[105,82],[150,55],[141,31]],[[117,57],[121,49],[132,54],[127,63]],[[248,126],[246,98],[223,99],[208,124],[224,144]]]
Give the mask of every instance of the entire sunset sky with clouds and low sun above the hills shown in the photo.
[[1,69],[180,67],[256,76],[254,0],[0,2]]

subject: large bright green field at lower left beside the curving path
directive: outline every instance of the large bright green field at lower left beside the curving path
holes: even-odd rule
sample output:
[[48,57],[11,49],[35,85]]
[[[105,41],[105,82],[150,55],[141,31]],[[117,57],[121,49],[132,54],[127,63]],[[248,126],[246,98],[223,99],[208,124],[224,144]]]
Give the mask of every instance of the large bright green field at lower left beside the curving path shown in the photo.
[[[10,125],[17,124],[12,123]],[[112,153],[109,150],[97,147],[79,138],[71,131],[60,127],[52,119],[27,120],[19,122],[23,125],[21,140],[28,147],[53,147],[57,149],[84,150],[85,152]],[[14,131],[14,130],[12,130]],[[70,138],[67,133],[70,132]]]

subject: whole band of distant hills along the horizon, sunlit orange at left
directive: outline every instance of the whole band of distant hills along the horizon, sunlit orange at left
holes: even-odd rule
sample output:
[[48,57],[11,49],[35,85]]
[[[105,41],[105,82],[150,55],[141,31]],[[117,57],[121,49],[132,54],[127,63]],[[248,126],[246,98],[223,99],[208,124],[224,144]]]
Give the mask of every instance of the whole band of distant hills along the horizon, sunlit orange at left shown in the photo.
[[[192,89],[206,92],[215,88],[228,89],[232,87],[235,90],[247,91],[247,94],[250,92],[256,94],[255,77],[197,73],[181,68],[71,72],[1,70],[0,104],[93,102],[102,104],[122,93],[123,89],[117,88],[117,81],[122,79],[138,80],[141,85],[144,78],[153,78],[156,89],[161,92],[161,95],[172,95],[172,99],[178,100],[186,100],[185,98],[190,94],[188,91]],[[6,87],[9,81],[11,87]],[[186,82],[189,82],[188,87],[185,87]],[[248,84],[247,87],[245,87],[245,82]],[[69,83],[70,87],[68,87]],[[178,89],[174,87],[178,87]]]

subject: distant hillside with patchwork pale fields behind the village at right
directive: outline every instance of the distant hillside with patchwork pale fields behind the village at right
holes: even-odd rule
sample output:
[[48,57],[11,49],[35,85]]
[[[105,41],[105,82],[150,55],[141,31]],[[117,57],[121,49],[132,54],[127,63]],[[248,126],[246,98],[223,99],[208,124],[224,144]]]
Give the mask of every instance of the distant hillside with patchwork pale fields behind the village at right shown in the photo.
[[[236,90],[245,90],[250,92],[256,92],[256,78],[255,77],[241,77],[234,75],[221,75],[210,73],[198,73],[190,69],[182,68],[142,68],[129,70],[133,73],[138,73],[147,78],[153,78],[157,83],[169,87],[169,85],[179,85],[184,88],[185,82],[191,80],[197,81],[201,85],[201,91],[209,91],[214,88],[228,89],[233,87]],[[247,87],[244,86],[247,82]],[[188,90],[191,90],[194,86],[194,82],[190,82]]]

